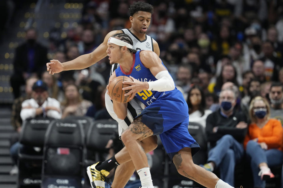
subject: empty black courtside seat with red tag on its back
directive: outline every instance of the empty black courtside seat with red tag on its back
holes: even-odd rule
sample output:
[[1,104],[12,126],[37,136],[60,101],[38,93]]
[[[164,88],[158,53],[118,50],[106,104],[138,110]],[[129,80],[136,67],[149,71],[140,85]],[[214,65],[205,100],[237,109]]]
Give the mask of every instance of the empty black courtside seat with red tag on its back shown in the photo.
[[53,120],[45,134],[42,188],[80,188],[85,135],[77,120]]

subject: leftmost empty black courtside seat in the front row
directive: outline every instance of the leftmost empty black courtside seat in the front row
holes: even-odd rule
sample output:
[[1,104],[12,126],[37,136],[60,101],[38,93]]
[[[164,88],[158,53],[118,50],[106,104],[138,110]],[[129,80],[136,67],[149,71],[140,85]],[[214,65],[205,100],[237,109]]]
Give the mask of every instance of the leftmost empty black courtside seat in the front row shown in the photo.
[[40,186],[44,135],[52,119],[38,117],[23,122],[19,142],[18,187]]

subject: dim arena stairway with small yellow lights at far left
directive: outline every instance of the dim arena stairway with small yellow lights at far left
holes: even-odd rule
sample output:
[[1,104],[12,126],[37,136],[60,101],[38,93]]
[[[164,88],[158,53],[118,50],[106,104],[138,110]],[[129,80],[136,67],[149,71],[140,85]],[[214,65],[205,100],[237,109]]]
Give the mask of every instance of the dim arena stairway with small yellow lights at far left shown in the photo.
[[[38,31],[38,41],[48,46],[49,32],[60,29],[60,38],[75,27],[81,19],[83,0],[27,0],[22,1],[14,12],[9,27],[0,41],[0,188],[16,188],[17,176],[10,176],[13,167],[9,153],[9,138],[14,132],[11,126],[11,104],[14,101],[10,76],[13,73],[14,50],[25,41],[25,29],[29,26]],[[54,54],[49,52],[47,58]]]

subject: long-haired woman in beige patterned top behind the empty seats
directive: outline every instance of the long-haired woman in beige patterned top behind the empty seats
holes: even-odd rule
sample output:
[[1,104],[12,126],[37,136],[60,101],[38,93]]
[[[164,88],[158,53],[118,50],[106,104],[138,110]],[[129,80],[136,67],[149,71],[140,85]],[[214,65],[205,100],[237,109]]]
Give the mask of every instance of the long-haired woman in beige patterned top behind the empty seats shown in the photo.
[[82,98],[76,85],[69,84],[65,88],[65,100],[61,103],[62,119],[69,115],[83,116],[91,105],[91,101]]

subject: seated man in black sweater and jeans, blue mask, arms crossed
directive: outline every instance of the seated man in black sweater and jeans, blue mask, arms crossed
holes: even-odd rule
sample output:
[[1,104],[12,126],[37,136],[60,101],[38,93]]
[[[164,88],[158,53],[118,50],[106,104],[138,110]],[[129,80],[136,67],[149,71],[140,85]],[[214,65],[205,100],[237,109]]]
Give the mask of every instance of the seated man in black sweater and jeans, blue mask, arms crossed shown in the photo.
[[246,135],[246,116],[234,109],[236,95],[233,90],[220,92],[220,109],[208,115],[205,131],[211,149],[205,169],[213,172],[219,168],[220,178],[234,186],[234,168],[244,154],[243,140]]

